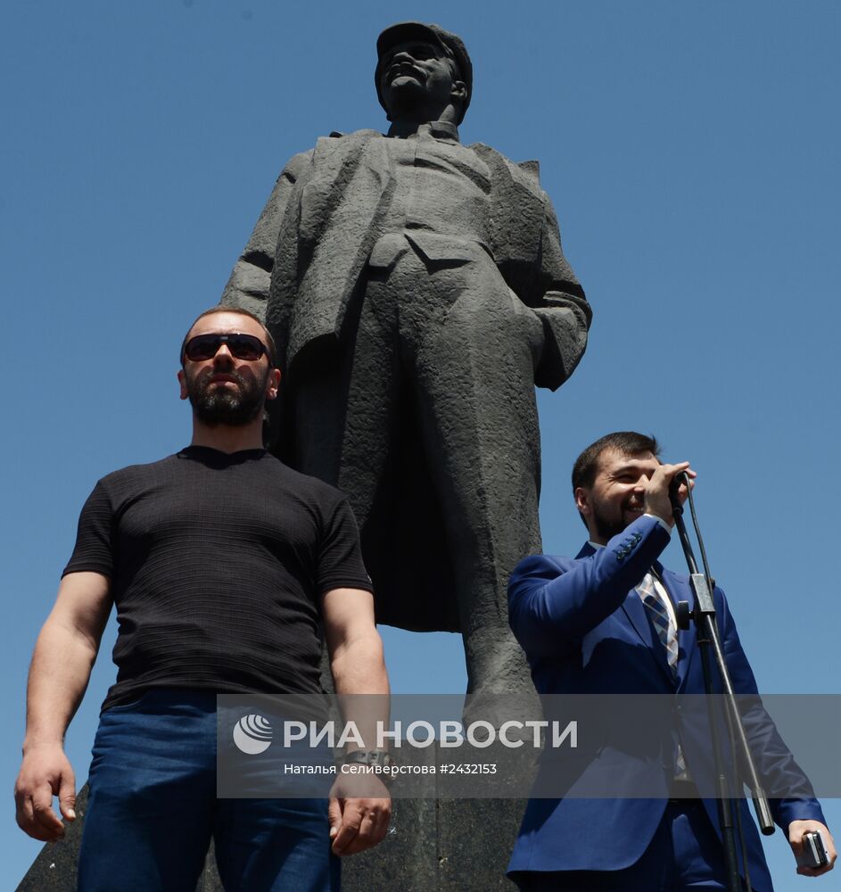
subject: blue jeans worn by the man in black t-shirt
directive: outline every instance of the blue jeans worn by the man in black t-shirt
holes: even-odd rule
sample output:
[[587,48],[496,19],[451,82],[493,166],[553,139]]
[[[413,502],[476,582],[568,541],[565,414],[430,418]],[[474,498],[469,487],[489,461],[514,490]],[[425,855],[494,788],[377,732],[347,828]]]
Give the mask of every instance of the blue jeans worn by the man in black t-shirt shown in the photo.
[[151,690],[102,714],[79,892],[194,892],[212,838],[227,892],[338,892],[326,799],[217,799],[216,695]]

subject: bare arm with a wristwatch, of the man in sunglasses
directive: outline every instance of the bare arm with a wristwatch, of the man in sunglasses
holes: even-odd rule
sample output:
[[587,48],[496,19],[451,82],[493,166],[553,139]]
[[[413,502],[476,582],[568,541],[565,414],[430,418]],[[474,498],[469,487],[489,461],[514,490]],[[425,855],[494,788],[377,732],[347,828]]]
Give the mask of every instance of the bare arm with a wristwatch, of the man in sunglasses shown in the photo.
[[[374,622],[374,598],[360,589],[328,591],[322,606],[330,667],[336,693],[377,695],[353,707],[345,715],[357,724],[359,733],[375,746],[377,719],[388,718],[388,675],[383,660],[383,641]],[[360,708],[363,706],[364,708]],[[354,855],[375,846],[388,830],[392,801],[383,784],[372,776],[364,778],[366,796],[354,796],[355,779],[339,775],[330,800],[330,835],[336,855]],[[371,797],[375,787],[377,796]]]

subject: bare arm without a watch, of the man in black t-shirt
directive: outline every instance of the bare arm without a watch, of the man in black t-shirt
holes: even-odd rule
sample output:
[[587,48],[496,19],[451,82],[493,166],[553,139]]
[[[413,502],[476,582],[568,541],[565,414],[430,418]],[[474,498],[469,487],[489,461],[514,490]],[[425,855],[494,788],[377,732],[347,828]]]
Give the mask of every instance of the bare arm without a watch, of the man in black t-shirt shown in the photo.
[[14,787],[18,825],[36,839],[54,841],[64,833],[54,796],[65,819],[76,817],[76,779],[64,755],[64,733],[87,689],[110,612],[106,576],[70,573],[38,635],[29,667],[23,763]]

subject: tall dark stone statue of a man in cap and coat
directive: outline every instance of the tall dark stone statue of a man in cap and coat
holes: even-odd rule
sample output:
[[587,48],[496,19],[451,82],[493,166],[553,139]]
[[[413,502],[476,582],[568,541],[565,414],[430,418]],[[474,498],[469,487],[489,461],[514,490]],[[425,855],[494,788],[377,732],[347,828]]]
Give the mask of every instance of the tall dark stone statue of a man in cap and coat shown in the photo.
[[573,373],[590,306],[537,164],[458,141],[461,39],[402,22],[376,52],[388,135],[289,161],[222,303],[276,338],[271,448],[348,494],[378,622],[461,632],[468,692],[531,689],[507,580],[540,551],[534,385]]

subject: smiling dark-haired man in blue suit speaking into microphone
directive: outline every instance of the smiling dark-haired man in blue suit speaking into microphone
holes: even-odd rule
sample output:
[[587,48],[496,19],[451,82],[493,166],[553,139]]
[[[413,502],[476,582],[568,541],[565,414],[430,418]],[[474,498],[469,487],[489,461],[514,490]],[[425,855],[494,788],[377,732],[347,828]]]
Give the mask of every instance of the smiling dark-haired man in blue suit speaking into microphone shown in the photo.
[[[672,478],[695,473],[688,462],[662,464],[658,454],[653,437],[632,432],[607,434],[584,450],[573,468],[573,491],[590,541],[576,558],[536,555],[515,568],[510,622],[540,694],[705,690],[695,630],[679,631],[675,622],[675,603],[694,600],[688,580],[657,559],[673,524]],[[681,501],[687,495],[682,485]],[[755,694],[723,592],[716,588],[713,599],[735,690]],[[803,775],[758,698],[744,721],[763,777],[775,779],[774,789],[780,783],[796,789]],[[709,739],[684,726],[659,752],[621,742],[584,755],[573,751],[563,766],[565,796],[530,800],[509,876],[524,890],[727,888],[716,803],[698,798],[693,783],[712,772],[710,748]],[[551,762],[541,766],[535,789],[557,784],[555,768],[552,775]],[[586,798],[606,777],[616,779],[617,793],[636,789],[650,797]],[[739,808],[751,882],[769,892],[759,835],[744,800]],[[797,872],[817,876],[832,869],[835,846],[817,800],[775,798],[771,813],[795,855],[804,833],[823,836],[829,864]],[[740,854],[739,871],[744,876]]]

